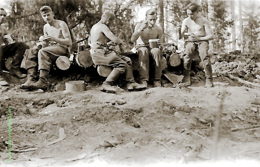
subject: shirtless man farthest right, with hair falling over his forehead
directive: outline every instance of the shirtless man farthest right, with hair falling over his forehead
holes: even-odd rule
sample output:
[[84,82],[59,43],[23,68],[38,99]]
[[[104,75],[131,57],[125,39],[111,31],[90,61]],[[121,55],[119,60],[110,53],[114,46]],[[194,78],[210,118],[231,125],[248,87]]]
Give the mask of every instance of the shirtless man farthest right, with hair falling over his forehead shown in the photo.
[[187,41],[184,44],[183,82],[185,85],[190,86],[190,67],[192,56],[194,52],[198,50],[206,75],[205,87],[213,87],[212,67],[210,56],[208,55],[209,40],[213,40],[213,34],[209,26],[209,20],[198,15],[198,10],[199,6],[196,3],[189,4],[187,6],[188,17],[183,20],[181,27],[178,27],[179,39],[183,37],[186,27],[188,27],[189,33],[193,33],[191,35],[192,41]]

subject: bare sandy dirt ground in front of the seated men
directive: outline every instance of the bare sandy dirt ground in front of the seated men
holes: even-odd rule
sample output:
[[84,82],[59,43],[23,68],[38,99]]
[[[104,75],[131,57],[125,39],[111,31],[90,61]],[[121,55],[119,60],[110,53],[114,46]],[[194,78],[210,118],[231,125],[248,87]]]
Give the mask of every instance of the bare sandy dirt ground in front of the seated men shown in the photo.
[[[53,90],[26,92],[19,89],[24,80],[16,80],[0,88],[0,166],[260,162],[260,128],[252,128],[259,126],[259,106],[251,104],[259,100],[260,89],[226,77],[215,77],[218,85],[204,88],[203,81],[192,78],[191,87],[120,89],[117,94],[101,92],[99,84],[70,93],[64,91],[66,80]],[[8,106],[12,162],[7,161]],[[60,128],[66,138],[47,145],[59,138]],[[28,148],[36,150],[21,152]]]

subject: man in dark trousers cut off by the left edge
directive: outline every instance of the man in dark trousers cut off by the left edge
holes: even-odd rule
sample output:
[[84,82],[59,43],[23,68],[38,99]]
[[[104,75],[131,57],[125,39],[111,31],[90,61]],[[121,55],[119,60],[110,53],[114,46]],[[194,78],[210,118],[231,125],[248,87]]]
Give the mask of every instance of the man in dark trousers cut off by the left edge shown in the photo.
[[[8,86],[8,82],[3,78],[3,59],[13,56],[12,66],[10,74],[18,78],[25,78],[26,74],[22,74],[20,66],[23,60],[23,55],[28,46],[24,42],[14,42],[12,44],[5,44],[3,41],[3,35],[10,34],[10,32],[4,27],[6,11],[0,8],[0,86]],[[13,35],[11,35],[12,38]]]

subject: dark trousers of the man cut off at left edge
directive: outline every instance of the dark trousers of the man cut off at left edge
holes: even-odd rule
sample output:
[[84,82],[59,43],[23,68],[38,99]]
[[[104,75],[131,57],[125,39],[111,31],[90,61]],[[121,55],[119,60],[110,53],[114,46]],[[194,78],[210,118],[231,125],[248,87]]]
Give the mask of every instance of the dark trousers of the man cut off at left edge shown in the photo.
[[25,44],[25,42],[15,42],[13,44],[1,47],[3,50],[3,59],[7,57],[14,57],[11,68],[18,70],[21,66],[21,63],[23,61],[23,55],[25,53],[25,50],[28,49],[28,46]]

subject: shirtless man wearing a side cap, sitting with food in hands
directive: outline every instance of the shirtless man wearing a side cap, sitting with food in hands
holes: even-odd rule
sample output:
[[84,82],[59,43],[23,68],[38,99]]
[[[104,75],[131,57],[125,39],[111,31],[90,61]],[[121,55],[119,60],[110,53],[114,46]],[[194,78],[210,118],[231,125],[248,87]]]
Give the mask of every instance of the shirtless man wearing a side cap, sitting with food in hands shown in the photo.
[[[29,50],[25,63],[27,81],[21,89],[46,89],[51,65],[60,56],[69,57],[68,47],[72,45],[72,40],[68,25],[62,20],[54,19],[54,13],[49,6],[42,6],[40,13],[47,23],[43,27],[44,36],[40,37],[40,41],[45,41],[50,46],[40,50],[37,48]],[[36,82],[38,70],[40,70],[40,79]]]

